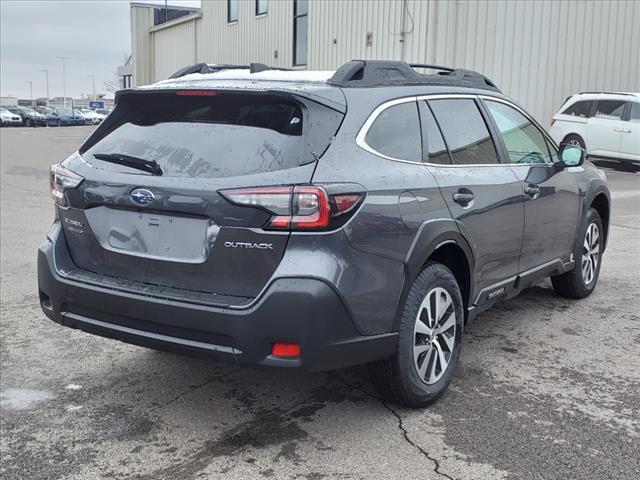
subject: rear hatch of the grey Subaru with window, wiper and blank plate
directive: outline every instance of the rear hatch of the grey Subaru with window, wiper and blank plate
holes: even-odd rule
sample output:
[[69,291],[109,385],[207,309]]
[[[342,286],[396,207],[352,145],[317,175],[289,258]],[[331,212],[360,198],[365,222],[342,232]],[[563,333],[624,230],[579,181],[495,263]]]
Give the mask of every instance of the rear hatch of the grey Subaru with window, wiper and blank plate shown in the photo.
[[284,254],[293,186],[311,181],[342,118],[335,105],[282,92],[122,94],[63,164],[82,177],[58,202],[74,274],[248,303]]

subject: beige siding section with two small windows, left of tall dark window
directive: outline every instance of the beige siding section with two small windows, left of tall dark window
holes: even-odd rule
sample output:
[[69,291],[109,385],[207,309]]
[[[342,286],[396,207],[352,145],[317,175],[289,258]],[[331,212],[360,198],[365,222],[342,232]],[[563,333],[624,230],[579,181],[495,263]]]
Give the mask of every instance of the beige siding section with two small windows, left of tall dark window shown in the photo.
[[[227,2],[204,0],[198,25],[199,62],[247,64],[260,62],[291,67],[293,62],[293,4],[268,2],[266,15],[255,15],[255,1],[238,4],[238,21],[227,23]],[[278,57],[275,58],[275,51]]]

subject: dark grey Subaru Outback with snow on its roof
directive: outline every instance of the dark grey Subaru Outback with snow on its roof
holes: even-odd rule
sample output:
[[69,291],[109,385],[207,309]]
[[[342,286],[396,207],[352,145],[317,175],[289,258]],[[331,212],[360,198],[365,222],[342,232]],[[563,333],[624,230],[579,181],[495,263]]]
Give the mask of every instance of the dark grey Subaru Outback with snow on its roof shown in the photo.
[[478,312],[546,277],[571,298],[595,288],[604,173],[489,79],[233,68],[120,91],[52,167],[38,280],[53,321],[246,365],[368,363],[419,407]]

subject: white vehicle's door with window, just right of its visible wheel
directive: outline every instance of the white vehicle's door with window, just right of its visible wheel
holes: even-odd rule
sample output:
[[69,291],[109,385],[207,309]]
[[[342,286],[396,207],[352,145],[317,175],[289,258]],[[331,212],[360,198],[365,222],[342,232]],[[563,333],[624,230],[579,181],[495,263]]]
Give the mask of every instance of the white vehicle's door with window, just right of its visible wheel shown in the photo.
[[622,142],[625,110],[624,100],[596,101],[593,117],[587,121],[587,148],[589,154],[617,157]]

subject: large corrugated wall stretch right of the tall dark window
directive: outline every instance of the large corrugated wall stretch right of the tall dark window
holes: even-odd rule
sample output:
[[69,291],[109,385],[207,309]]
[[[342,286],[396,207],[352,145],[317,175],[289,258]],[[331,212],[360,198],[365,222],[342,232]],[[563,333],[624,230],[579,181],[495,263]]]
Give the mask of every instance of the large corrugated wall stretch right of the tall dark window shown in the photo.
[[573,93],[640,91],[640,2],[312,0],[309,9],[312,69],[379,58],[478,70],[545,125]]

